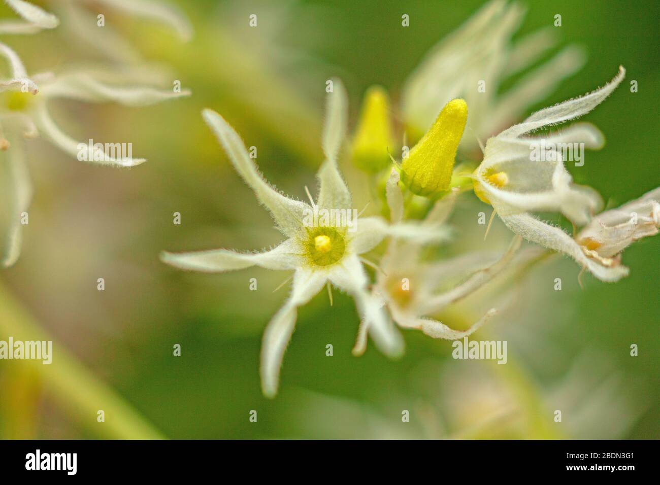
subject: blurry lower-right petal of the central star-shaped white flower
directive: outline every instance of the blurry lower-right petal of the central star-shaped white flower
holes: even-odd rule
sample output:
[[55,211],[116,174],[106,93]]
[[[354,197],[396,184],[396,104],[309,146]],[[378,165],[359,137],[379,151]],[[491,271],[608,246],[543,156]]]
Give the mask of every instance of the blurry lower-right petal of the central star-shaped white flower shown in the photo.
[[383,301],[368,292],[368,278],[358,257],[345,257],[328,278],[354,298],[358,313],[364,320],[361,325],[366,325],[380,351],[391,357],[400,356],[403,353],[401,334],[387,318]]

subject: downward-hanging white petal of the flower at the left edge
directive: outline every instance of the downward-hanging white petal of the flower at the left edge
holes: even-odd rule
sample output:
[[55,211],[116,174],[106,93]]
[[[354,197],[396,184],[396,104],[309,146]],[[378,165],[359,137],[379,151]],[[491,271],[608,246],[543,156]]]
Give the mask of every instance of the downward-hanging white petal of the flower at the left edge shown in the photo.
[[7,207],[7,228],[5,228],[5,242],[0,254],[0,265],[10,267],[20,255],[22,242],[22,224],[20,222],[22,212],[26,212],[32,200],[32,184],[25,165],[24,154],[20,143],[11,146],[11,150],[0,159],[1,173],[4,174],[9,184],[7,191],[3,194],[5,207]]

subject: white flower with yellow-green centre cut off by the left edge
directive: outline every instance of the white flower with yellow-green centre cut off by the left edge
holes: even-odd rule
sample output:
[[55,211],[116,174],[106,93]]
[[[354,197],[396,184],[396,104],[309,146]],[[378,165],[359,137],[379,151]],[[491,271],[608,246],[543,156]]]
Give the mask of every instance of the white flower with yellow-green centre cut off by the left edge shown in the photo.
[[[0,55],[9,61],[12,71],[9,79],[0,81],[3,96],[0,104],[0,148],[8,152],[1,166],[8,183],[2,197],[3,205],[10,208],[7,211],[9,216],[0,228],[0,236],[4,236],[4,247],[0,248],[0,265],[9,267],[16,262],[20,253],[20,218],[22,212],[28,209],[32,197],[30,178],[20,146],[21,138],[31,139],[41,135],[76,158],[81,152],[81,143],[64,133],[51,118],[49,100],[63,98],[90,103],[112,101],[125,106],[147,106],[190,93],[131,86],[125,82],[129,79],[124,79],[121,84],[109,83],[102,79],[102,71],[78,70],[57,76],[48,73],[30,79],[12,49],[0,44]],[[98,147],[94,148],[93,156],[88,161],[117,167],[131,167],[146,162],[145,158],[115,158]]]

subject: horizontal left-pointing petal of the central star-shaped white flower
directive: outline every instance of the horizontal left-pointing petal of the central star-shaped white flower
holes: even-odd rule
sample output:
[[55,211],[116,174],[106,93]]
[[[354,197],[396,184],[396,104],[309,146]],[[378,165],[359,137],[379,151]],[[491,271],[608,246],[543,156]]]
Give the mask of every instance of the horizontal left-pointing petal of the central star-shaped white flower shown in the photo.
[[221,273],[252,266],[266,269],[289,270],[300,267],[302,250],[294,240],[286,240],[279,246],[263,253],[237,253],[228,249],[211,249],[191,253],[160,253],[163,263],[180,269]]

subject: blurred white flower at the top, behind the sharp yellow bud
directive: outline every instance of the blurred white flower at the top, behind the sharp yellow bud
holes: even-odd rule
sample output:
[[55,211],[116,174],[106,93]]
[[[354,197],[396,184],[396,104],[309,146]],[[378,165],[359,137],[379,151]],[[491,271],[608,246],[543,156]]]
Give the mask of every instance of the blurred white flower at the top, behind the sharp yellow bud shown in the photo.
[[502,81],[537,63],[556,44],[552,27],[512,42],[524,13],[518,3],[490,1],[429,51],[401,96],[409,131],[425,133],[449,100],[464,98],[470,108],[471,136],[463,138],[461,149],[472,151],[478,139],[519,119],[528,106],[578,71],[585,55],[570,46],[500,94]]

